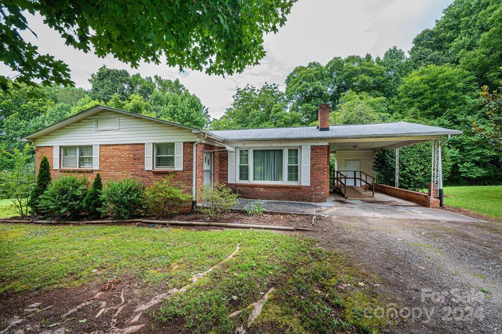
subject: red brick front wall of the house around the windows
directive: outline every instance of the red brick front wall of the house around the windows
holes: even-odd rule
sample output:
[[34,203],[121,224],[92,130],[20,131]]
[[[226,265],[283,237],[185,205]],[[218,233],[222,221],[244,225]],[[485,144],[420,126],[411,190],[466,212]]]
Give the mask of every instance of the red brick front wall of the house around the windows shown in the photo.
[[[196,187],[204,184],[203,159],[204,150],[219,150],[221,147],[209,144],[197,145]],[[38,146],[36,148],[37,171],[42,156],[47,156],[51,167],[52,178],[62,173],[77,173],[94,180],[97,172],[103,181],[120,180],[131,177],[141,180],[147,186],[159,181],[168,173],[174,173],[173,181],[186,183],[191,193],[193,143],[183,144],[183,171],[145,170],[145,144],[120,144],[99,146],[99,170],[92,169],[53,169],[53,147]],[[276,199],[304,202],[325,202],[329,197],[329,147],[312,146],[310,155],[310,186],[300,185],[264,185],[264,184],[228,184],[228,153],[213,153],[213,181],[225,183],[238,192],[243,198]]]

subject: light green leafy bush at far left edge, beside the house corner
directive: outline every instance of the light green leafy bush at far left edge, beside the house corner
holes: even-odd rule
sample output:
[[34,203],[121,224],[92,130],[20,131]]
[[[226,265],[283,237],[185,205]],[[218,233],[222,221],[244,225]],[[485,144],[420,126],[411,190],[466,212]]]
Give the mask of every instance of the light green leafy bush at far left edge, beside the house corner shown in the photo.
[[2,158],[11,161],[12,169],[0,172],[0,198],[9,198],[21,216],[28,214],[28,199],[33,191],[35,175],[33,163],[30,162],[31,149],[32,147],[26,144],[23,151],[2,151]]

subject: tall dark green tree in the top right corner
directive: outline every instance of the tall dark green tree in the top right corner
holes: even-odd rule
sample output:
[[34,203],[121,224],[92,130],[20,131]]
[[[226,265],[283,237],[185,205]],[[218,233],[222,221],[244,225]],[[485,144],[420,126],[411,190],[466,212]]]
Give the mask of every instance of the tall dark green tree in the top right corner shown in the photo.
[[478,84],[497,85],[502,63],[502,0],[455,0],[432,29],[413,41],[415,69],[430,64],[459,64]]

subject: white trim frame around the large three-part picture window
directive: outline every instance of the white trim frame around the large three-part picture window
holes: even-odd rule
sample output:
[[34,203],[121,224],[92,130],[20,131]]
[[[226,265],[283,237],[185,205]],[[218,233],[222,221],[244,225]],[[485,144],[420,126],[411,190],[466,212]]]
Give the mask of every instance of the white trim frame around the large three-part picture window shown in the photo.
[[[302,175],[300,167],[298,167],[298,181],[288,181],[288,149],[298,149],[298,166],[301,166],[301,146],[264,146],[264,147],[240,147],[237,148],[235,154],[235,183],[241,184],[288,184],[300,185]],[[239,155],[241,150],[248,150],[247,163],[248,163],[248,178],[249,180],[240,180],[240,165]],[[283,150],[283,180],[282,181],[255,181],[253,180],[253,151],[254,150]]]

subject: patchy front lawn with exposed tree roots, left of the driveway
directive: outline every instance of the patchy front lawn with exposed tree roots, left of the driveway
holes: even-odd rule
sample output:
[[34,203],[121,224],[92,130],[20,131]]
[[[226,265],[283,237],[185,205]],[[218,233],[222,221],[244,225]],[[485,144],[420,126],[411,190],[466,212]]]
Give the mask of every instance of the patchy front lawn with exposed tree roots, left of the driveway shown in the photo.
[[[0,293],[102,284],[132,277],[143,290],[181,287],[227,257],[183,294],[151,313],[166,326],[195,332],[233,332],[274,286],[257,332],[378,332],[387,318],[371,316],[383,306],[371,282],[379,280],[337,252],[313,241],[258,231],[186,231],[133,226],[0,225]],[[96,282],[97,280],[97,282]],[[342,288],[340,288],[342,286]]]

